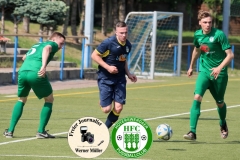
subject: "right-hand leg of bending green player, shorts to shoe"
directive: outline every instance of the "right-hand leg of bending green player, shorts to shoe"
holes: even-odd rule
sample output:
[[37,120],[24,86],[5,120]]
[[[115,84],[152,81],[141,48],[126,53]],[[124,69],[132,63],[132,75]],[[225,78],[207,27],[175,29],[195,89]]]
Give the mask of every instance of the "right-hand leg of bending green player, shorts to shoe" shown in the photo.
[[44,98],[44,104],[40,113],[40,122],[38,126],[37,138],[55,138],[54,136],[47,133],[45,127],[52,114],[53,106],[53,90],[52,86],[47,78],[34,77],[32,75],[31,87],[39,99]]

